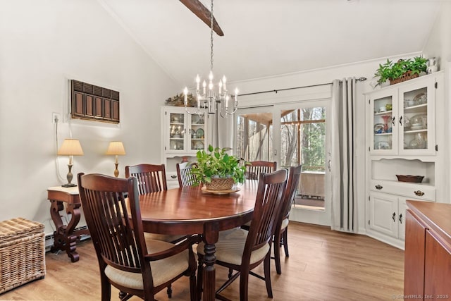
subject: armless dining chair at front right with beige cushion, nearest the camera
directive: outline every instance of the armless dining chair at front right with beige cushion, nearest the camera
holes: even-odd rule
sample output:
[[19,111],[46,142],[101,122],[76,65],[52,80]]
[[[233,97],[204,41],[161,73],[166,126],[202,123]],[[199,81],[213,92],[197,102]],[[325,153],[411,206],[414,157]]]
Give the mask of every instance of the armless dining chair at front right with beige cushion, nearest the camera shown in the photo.
[[[221,231],[216,242],[216,264],[236,271],[228,281],[216,291],[216,298],[227,300],[219,295],[240,276],[240,300],[248,300],[249,274],[263,279],[268,297],[273,297],[271,288],[271,243],[274,228],[280,216],[283,192],[285,191],[287,171],[282,169],[273,173],[260,173],[254,213],[249,231],[234,228]],[[197,246],[198,254],[198,297],[202,294],[202,273],[204,265],[204,242]],[[252,269],[264,263],[264,276],[255,274]]]

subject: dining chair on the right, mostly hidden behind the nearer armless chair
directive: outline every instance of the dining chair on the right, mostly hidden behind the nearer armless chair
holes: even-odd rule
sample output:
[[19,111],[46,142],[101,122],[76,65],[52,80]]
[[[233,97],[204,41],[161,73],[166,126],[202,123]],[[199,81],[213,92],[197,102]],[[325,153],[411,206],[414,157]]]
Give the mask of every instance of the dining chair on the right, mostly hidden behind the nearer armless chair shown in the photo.
[[282,209],[280,210],[280,216],[276,221],[276,230],[274,231],[274,260],[276,262],[277,274],[282,274],[280,268],[280,247],[283,245],[285,251],[285,257],[289,257],[288,254],[288,217],[293,202],[295,201],[295,194],[297,186],[299,185],[299,178],[301,176],[302,165],[290,167],[288,173],[287,189],[283,196]]

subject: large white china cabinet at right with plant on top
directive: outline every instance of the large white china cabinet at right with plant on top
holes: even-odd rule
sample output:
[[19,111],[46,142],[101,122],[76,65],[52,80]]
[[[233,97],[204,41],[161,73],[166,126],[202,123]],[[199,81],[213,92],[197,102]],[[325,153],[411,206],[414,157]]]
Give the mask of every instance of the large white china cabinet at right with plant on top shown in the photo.
[[[366,94],[366,233],[401,249],[406,200],[443,199],[443,75],[432,73]],[[397,175],[424,179],[402,182]]]

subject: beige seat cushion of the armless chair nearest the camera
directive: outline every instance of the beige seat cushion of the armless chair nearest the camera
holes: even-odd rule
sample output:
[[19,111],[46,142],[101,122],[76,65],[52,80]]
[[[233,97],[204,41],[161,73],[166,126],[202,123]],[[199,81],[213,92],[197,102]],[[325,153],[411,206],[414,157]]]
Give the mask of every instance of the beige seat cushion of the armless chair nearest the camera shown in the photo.
[[[241,228],[234,228],[219,233],[218,242],[216,242],[216,260],[227,262],[229,264],[241,265],[242,253],[245,250],[247,231]],[[197,252],[204,255],[204,242],[197,246]],[[254,264],[264,259],[269,252],[269,245],[265,244],[251,254],[250,264]]]

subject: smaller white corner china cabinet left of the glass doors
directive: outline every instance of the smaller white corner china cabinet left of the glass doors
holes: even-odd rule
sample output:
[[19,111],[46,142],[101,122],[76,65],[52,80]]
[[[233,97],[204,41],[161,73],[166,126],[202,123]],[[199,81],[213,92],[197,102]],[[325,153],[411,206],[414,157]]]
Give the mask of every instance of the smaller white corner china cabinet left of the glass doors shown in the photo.
[[209,145],[209,115],[191,115],[185,107],[161,108],[162,161],[166,165],[168,188],[178,187],[175,164],[195,161],[199,149]]

